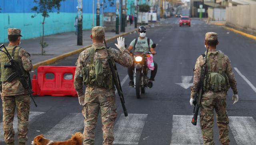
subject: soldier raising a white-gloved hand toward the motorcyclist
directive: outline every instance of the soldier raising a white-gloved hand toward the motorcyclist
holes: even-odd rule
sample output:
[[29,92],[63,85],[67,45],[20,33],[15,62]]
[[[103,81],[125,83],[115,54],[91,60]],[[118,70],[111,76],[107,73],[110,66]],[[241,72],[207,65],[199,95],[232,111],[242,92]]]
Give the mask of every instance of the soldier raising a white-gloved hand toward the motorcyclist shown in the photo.
[[[102,43],[105,37],[104,27],[93,27],[90,37],[93,41],[92,48],[84,50],[79,55],[74,76],[74,87],[78,94],[79,103],[83,106],[84,145],[94,145],[94,129],[96,128],[99,112],[102,120],[103,145],[112,145],[114,141],[113,127],[117,112],[115,105],[115,88],[113,86],[114,82],[110,80],[112,75],[109,74],[108,54],[104,43]],[[113,57],[115,62],[124,67],[132,66],[132,57],[130,57],[130,52],[124,47],[124,39],[118,39],[116,46],[120,51],[110,48],[108,50],[109,55]],[[94,51],[94,54],[90,51]],[[97,62],[97,60],[100,60],[103,72],[105,73],[104,76],[106,76],[105,78],[103,76],[102,80],[104,80],[104,82],[101,85],[93,80],[92,82],[89,81],[89,83],[88,80],[85,80],[89,75],[91,77],[91,74],[95,76],[95,74],[91,72],[92,70],[86,73],[84,69],[90,68],[90,65]],[[85,84],[85,82],[87,83]],[[86,85],[85,94],[83,92],[83,84]]]

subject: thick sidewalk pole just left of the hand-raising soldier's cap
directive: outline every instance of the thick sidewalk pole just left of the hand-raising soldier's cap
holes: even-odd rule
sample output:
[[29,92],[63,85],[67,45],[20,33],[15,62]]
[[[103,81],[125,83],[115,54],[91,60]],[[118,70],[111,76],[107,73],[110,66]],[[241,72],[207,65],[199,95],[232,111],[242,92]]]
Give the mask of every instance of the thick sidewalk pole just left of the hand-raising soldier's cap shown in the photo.
[[77,45],[83,45],[83,0],[77,0]]

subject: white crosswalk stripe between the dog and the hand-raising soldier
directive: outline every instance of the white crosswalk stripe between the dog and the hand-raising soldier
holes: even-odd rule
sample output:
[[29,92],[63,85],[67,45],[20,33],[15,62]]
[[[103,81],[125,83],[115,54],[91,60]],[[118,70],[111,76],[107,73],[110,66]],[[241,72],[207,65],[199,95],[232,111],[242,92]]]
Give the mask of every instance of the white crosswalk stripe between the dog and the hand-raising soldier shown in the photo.
[[82,113],[70,113],[58,124],[56,124],[45,135],[52,141],[62,141],[71,137],[73,133],[84,128],[84,118]]

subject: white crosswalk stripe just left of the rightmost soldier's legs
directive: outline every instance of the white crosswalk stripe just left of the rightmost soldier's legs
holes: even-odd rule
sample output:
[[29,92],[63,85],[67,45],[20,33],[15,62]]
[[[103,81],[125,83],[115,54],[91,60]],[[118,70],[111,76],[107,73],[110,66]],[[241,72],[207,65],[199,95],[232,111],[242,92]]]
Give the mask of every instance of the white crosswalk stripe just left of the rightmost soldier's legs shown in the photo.
[[191,123],[192,117],[190,115],[172,116],[172,138],[170,145],[203,144],[199,116],[196,126]]

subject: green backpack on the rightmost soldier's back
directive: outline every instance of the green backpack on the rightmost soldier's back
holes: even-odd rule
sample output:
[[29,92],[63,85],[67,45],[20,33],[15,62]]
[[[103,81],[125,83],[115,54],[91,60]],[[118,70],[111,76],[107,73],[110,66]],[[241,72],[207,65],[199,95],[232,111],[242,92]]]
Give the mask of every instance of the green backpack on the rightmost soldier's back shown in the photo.
[[230,88],[228,76],[225,72],[222,72],[224,53],[218,52],[218,72],[212,72],[211,61],[209,55],[216,55],[216,53],[210,53],[207,57],[207,75],[204,77],[204,91],[212,90],[213,92],[219,92]]

